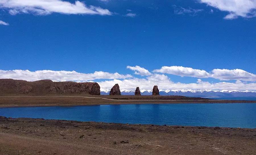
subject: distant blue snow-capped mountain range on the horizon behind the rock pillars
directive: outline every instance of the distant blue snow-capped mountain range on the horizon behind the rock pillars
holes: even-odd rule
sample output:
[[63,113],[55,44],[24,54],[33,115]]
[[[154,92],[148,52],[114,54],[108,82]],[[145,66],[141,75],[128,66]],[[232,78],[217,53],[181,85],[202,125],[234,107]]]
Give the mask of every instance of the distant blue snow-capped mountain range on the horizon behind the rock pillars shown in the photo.
[[[101,95],[109,95],[110,90],[101,88]],[[134,95],[134,90],[121,90],[121,95]],[[187,97],[256,97],[256,91],[237,91],[237,90],[159,90],[160,95],[181,95]],[[141,95],[152,95],[152,90],[141,90]]]

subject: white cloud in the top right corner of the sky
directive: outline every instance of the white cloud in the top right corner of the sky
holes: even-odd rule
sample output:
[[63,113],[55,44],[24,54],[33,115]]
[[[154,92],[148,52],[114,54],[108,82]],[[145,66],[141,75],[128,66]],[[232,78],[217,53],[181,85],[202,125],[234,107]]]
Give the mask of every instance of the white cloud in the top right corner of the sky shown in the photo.
[[235,19],[238,16],[251,18],[256,16],[256,0],[199,0],[209,6],[229,14],[224,19]]

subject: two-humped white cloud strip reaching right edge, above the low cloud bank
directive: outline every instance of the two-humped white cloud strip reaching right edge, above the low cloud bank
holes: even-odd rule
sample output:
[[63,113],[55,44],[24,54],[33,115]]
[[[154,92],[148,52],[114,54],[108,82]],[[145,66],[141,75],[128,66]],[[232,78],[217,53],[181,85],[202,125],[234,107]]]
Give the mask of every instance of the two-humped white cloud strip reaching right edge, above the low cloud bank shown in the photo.
[[182,66],[163,66],[161,69],[153,70],[153,72],[167,73],[177,76],[189,76],[198,78],[215,78],[219,80],[242,80],[242,81],[256,81],[256,75],[246,72],[241,69],[214,69],[210,73],[205,70],[193,69]]

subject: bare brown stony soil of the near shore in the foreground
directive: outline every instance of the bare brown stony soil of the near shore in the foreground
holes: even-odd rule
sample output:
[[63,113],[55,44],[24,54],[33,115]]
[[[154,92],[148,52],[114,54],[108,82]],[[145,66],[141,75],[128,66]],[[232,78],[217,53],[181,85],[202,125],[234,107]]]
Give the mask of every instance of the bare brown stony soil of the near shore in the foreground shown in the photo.
[[256,129],[0,117],[0,154],[256,154]]

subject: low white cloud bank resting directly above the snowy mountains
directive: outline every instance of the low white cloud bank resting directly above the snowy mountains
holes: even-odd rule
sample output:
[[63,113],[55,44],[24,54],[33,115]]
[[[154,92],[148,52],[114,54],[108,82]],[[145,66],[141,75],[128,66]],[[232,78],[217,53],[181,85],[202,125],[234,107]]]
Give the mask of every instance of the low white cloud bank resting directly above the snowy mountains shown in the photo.
[[120,89],[127,90],[135,90],[136,87],[140,87],[140,89],[152,90],[154,85],[158,85],[158,89],[166,90],[166,89],[211,89],[211,90],[256,90],[256,83],[243,83],[239,80],[236,83],[229,82],[218,82],[218,83],[209,83],[207,81],[202,81],[201,79],[197,80],[197,83],[174,83],[167,76],[154,74],[148,78],[132,78],[132,79],[123,79],[123,80],[106,80],[102,82],[98,82],[101,88],[111,89],[115,83],[118,83]]

